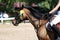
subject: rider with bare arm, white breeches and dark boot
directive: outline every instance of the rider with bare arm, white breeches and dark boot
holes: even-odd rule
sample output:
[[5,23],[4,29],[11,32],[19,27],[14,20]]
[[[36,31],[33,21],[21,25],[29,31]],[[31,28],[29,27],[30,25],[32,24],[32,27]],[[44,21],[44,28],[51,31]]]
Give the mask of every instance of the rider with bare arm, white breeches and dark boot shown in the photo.
[[[60,0],[59,0],[58,4],[56,5],[56,7],[53,8],[49,13],[54,14],[54,12],[56,12],[59,8],[60,8]],[[60,36],[60,31],[59,31],[60,26],[59,26],[59,30],[57,29],[56,26],[54,26],[54,25],[57,25],[58,23],[60,23],[60,10],[54,16],[55,16],[55,18],[50,22],[50,24],[53,27],[53,29],[55,29],[55,32],[58,33],[58,35]]]

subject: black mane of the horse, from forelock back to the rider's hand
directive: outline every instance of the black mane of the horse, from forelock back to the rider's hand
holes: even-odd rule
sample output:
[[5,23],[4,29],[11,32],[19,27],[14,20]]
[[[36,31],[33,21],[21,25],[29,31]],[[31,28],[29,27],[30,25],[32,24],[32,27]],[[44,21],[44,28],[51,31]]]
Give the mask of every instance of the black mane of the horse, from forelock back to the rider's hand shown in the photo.
[[39,6],[32,7],[32,6],[22,6],[21,9],[26,8],[31,12],[31,15],[34,16],[37,19],[47,19],[49,17],[49,10],[41,8]]

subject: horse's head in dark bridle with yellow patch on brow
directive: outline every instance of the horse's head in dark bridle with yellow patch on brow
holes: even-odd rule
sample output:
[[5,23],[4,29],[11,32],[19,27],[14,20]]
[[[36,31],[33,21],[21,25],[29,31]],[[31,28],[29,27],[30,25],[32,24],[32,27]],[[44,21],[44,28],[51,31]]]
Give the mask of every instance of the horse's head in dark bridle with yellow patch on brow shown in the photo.
[[[23,7],[23,6],[22,6]],[[23,11],[23,8],[15,8],[17,12],[15,12],[15,19],[12,21],[12,24],[14,26],[17,26],[19,23],[21,23],[23,20],[26,19],[25,12]]]

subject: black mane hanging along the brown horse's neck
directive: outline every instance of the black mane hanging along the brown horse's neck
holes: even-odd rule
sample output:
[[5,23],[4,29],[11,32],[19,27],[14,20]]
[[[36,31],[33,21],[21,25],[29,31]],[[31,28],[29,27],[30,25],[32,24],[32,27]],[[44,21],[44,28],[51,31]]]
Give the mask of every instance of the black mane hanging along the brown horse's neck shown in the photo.
[[[38,6],[37,7],[28,6],[25,8],[27,8],[31,12],[31,15],[37,19],[40,19],[42,17],[42,15],[46,15],[46,16],[48,15],[48,11],[45,11],[45,10],[43,10],[43,8],[40,8]],[[45,18],[45,16],[44,16],[44,18]]]

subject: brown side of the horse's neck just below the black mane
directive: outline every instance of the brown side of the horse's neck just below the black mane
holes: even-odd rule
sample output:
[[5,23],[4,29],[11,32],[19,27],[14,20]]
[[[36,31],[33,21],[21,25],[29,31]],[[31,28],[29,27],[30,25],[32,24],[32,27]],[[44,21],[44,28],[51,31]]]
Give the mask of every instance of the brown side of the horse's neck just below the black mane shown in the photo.
[[37,28],[37,25],[39,23],[38,19],[36,19],[35,17],[33,17],[31,14],[30,14],[30,11],[28,9],[23,9],[25,11],[25,14],[27,15],[27,18],[28,20],[31,22],[31,24]]

